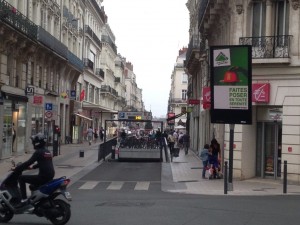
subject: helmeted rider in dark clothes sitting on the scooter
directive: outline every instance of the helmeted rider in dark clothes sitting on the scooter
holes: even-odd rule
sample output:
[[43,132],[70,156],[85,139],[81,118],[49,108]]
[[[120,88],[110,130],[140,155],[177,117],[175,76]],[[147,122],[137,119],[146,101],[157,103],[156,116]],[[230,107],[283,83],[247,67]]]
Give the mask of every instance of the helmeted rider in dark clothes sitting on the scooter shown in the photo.
[[[39,173],[37,175],[21,175],[18,179],[21,191],[21,205],[23,202],[27,201],[26,194],[26,183],[41,186],[49,181],[51,181],[55,175],[54,166],[52,162],[52,154],[49,150],[45,148],[46,137],[42,133],[38,133],[31,137],[34,153],[26,162],[18,165],[14,168],[15,171],[24,171],[26,169],[36,169],[39,168]],[[36,164],[34,164],[37,162]]]

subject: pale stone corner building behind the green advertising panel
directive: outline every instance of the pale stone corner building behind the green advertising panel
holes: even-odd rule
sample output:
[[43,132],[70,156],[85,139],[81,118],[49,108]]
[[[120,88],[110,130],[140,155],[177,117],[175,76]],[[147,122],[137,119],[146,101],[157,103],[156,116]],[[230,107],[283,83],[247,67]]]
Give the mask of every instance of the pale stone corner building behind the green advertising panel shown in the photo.
[[[206,104],[191,113],[192,148],[216,137],[229,158],[229,126],[211,124],[206,97],[210,86],[209,47],[252,46],[252,125],[234,130],[233,176],[300,183],[299,1],[188,1],[190,54],[185,62],[191,97]],[[194,37],[200,42],[193,43]]]

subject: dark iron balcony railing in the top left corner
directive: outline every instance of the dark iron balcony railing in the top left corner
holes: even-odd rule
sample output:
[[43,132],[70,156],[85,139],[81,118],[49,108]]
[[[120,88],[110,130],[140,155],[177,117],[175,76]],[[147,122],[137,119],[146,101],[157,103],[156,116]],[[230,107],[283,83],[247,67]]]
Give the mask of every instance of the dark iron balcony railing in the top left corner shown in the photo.
[[0,19],[30,39],[37,39],[37,25],[4,0],[0,0]]

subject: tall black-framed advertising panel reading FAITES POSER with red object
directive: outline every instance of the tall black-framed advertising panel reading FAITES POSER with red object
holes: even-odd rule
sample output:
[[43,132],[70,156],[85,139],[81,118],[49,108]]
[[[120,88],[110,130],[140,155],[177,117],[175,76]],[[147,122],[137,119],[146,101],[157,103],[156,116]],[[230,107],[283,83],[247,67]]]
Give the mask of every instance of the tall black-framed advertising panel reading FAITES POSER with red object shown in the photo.
[[250,45],[210,48],[212,123],[252,123],[251,52]]

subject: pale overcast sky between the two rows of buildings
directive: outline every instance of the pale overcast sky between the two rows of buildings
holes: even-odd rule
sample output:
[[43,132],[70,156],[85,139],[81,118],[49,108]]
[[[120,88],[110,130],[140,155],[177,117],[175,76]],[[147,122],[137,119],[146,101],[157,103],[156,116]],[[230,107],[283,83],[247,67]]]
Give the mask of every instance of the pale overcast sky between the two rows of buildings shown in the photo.
[[187,0],[104,0],[118,53],[133,64],[146,110],[166,116],[178,51],[188,45]]

